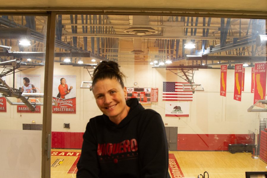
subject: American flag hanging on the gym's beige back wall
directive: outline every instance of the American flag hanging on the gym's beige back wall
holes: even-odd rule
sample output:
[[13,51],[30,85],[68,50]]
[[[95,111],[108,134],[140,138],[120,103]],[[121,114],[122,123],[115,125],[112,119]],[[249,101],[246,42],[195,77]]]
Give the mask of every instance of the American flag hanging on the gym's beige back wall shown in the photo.
[[184,91],[188,82],[163,82],[162,101],[193,101],[192,91]]

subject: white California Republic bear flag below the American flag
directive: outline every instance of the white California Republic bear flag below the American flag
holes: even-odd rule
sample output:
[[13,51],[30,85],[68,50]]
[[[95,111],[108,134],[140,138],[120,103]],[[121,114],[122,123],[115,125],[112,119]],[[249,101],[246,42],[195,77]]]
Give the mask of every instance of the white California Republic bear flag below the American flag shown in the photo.
[[189,117],[189,102],[165,102],[165,116]]

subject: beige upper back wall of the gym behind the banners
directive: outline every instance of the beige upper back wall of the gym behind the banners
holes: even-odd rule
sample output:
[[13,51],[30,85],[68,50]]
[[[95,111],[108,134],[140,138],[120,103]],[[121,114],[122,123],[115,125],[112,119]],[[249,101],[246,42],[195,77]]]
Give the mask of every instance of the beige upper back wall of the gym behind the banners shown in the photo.
[[[178,133],[183,134],[246,134],[248,130],[259,128],[260,118],[266,118],[266,113],[247,112],[253,104],[253,93],[250,93],[251,68],[246,68],[245,88],[242,101],[233,100],[234,70],[227,72],[226,97],[220,96],[220,70],[199,69],[195,72],[194,82],[202,84],[205,91],[195,92],[190,102],[189,117],[165,117],[165,102],[161,101],[162,82],[183,80],[166,69],[155,69],[151,65],[120,64],[121,71],[126,75],[125,86],[158,88],[158,102],[153,102],[151,108],[160,113],[163,122],[168,126],[178,127]],[[138,71],[138,72],[136,72]],[[20,74],[41,74],[41,91],[43,91],[44,67],[27,69]],[[52,114],[52,131],[84,132],[91,117],[100,115],[92,91],[81,89],[82,81],[90,81],[90,75],[83,67],[54,65],[55,75],[76,75],[76,114]],[[16,76],[16,75],[15,75]],[[15,78],[16,80],[16,78]],[[12,75],[6,77],[12,86]],[[16,82],[15,82],[16,83]],[[17,86],[15,86],[17,87]],[[7,113],[0,113],[1,129],[22,129],[22,123],[42,123],[41,114],[17,113],[16,106],[7,103]],[[70,129],[63,128],[63,123],[70,123]]]

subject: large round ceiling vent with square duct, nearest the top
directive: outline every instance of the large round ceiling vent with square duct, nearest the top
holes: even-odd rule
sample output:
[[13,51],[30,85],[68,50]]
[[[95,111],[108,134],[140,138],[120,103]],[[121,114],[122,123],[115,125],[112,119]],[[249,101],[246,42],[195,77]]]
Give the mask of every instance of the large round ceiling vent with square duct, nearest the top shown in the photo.
[[[154,28],[151,27],[142,27],[149,26],[149,16],[148,15],[133,15],[133,25],[138,27],[130,27],[124,30],[124,33],[133,34],[133,35],[151,35],[155,34],[156,31]],[[140,25],[140,26],[139,26]]]

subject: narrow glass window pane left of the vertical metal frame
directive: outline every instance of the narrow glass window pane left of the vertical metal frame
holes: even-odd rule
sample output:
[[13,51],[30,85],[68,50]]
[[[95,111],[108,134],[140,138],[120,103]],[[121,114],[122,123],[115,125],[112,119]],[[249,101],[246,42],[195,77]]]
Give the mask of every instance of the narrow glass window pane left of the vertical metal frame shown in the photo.
[[41,177],[46,29],[46,16],[0,16],[2,177]]

